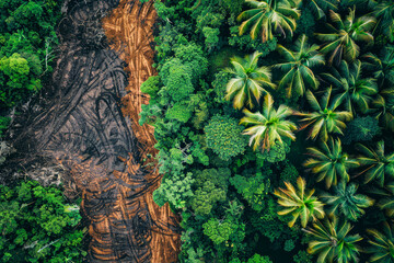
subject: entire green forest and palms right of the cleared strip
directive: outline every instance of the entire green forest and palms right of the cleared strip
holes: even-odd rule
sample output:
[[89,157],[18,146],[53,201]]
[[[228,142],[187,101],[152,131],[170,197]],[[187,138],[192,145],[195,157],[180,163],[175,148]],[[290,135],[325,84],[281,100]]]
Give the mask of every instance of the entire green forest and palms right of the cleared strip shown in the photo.
[[394,262],[394,3],[155,1],[154,126],[181,262]]

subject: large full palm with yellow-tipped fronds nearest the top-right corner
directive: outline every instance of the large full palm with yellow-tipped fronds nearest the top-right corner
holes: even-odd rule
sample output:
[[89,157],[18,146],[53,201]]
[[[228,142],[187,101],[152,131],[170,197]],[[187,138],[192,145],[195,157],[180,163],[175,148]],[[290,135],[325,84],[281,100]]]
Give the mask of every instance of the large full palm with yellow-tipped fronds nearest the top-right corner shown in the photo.
[[355,11],[350,10],[349,15],[345,20],[340,18],[338,13],[329,10],[331,20],[336,26],[328,24],[328,27],[333,33],[331,34],[317,34],[317,38],[325,44],[321,52],[331,53],[328,62],[340,62],[343,57],[346,60],[352,61],[359,55],[359,46],[356,44],[358,41],[372,42],[373,36],[368,31],[373,28],[375,20],[370,16],[361,16],[356,20]]

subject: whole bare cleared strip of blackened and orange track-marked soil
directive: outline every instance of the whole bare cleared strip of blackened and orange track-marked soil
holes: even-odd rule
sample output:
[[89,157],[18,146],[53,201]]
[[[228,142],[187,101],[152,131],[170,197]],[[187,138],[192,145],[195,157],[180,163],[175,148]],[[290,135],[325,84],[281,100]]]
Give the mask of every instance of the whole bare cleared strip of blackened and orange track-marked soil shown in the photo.
[[90,262],[175,262],[177,218],[151,197],[160,183],[147,158],[153,129],[138,125],[148,101],[139,87],[155,73],[152,1],[70,0],[63,11],[53,95],[14,145],[70,171],[65,183],[82,192],[90,222]]

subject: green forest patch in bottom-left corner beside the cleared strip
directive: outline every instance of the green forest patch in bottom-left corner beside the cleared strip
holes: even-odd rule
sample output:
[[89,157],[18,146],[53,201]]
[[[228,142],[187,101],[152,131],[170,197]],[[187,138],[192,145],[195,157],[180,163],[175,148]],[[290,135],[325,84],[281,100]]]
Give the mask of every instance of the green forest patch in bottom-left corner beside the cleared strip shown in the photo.
[[67,204],[60,190],[26,181],[0,185],[2,262],[82,262],[79,206]]

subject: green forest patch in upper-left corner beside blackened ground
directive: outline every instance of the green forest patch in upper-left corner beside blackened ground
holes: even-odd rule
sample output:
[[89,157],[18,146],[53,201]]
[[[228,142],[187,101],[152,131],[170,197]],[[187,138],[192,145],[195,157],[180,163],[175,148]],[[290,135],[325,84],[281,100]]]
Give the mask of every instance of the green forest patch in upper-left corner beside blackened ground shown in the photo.
[[42,89],[58,44],[60,7],[46,0],[1,1],[0,107],[12,107]]

